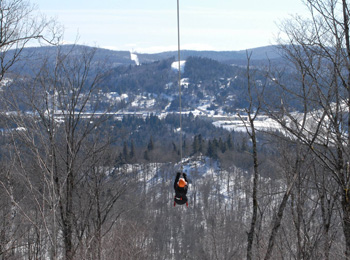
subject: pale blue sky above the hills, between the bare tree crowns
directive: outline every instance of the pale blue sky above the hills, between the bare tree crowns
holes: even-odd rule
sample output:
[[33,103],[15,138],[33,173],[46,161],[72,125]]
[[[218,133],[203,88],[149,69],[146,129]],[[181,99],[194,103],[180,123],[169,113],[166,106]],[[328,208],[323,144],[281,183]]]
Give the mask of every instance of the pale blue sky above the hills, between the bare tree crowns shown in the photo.
[[[65,41],[159,52],[177,48],[177,0],[31,0],[65,27]],[[244,50],[274,44],[278,24],[306,12],[301,0],[180,0],[181,48]]]

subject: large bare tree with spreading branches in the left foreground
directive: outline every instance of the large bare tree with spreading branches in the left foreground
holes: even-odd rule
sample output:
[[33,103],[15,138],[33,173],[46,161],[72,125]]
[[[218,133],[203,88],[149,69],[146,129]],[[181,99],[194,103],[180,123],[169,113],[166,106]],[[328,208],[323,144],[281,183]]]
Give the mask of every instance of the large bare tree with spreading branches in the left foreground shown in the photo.
[[52,259],[62,254],[101,259],[103,237],[126,209],[115,206],[133,175],[114,165],[117,154],[109,147],[113,114],[99,110],[104,74],[103,66],[93,62],[95,49],[59,48],[57,53],[56,63],[46,60],[33,80],[21,79],[4,91],[4,104],[13,111],[10,124],[23,129],[9,131],[10,158],[33,198],[30,210],[40,213]]

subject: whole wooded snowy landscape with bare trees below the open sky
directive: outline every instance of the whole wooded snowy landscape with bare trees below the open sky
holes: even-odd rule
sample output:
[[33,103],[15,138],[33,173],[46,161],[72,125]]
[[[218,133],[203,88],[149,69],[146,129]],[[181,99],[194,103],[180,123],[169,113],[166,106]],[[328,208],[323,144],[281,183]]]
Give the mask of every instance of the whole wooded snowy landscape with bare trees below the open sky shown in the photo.
[[109,66],[1,1],[0,259],[350,259],[350,12],[305,5],[283,63],[187,57],[181,114],[175,58]]

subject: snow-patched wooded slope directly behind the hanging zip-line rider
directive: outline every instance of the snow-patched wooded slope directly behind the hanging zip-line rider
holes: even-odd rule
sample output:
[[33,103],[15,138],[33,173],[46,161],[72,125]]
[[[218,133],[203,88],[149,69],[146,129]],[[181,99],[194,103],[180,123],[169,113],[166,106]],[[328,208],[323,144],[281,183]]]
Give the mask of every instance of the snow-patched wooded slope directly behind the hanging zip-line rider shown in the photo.
[[[233,208],[251,201],[252,176],[236,166],[232,166],[229,171],[223,170],[216,160],[206,156],[184,158],[181,163],[175,165],[173,163],[124,165],[123,172],[136,173],[139,181],[145,183],[147,191],[154,189],[157,185],[161,187],[166,185],[169,187],[169,193],[172,194],[176,172],[181,171],[181,168],[189,180],[187,195],[190,205],[194,203],[194,197],[197,203],[213,200]],[[268,185],[272,180],[261,177],[260,181]],[[209,189],[205,191],[206,186]],[[283,184],[280,183],[276,187],[281,188]]]

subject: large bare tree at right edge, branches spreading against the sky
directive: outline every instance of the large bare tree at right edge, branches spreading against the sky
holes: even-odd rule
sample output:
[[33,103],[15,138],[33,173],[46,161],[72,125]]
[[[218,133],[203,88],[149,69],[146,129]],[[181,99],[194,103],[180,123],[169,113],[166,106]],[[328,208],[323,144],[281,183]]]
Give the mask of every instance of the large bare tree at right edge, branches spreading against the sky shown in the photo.
[[[281,47],[295,78],[283,83],[278,75],[271,77],[282,90],[280,113],[272,116],[309,147],[339,185],[345,258],[350,259],[349,8],[345,0],[306,0],[305,4],[308,18],[295,16],[281,26]],[[289,101],[298,104],[301,113],[291,113]]]

